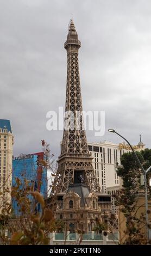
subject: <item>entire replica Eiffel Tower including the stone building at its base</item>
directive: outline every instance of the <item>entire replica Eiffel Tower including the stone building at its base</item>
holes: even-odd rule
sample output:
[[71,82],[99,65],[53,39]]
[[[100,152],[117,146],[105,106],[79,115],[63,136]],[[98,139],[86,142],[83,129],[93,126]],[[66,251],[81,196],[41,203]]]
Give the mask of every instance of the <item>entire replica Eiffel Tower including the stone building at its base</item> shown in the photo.
[[[82,212],[80,214],[81,227],[85,230],[92,230],[92,223],[87,219],[92,220],[92,212],[94,221],[96,217],[102,216],[103,209],[108,211],[110,196],[106,197],[108,198],[108,204],[106,204],[102,200],[105,195],[100,190],[92,167],[93,157],[87,146],[78,63],[80,46],[78,34],[71,20],[65,42],[67,51],[65,124],[67,125],[64,128],[61,155],[58,157],[58,170],[48,198],[48,205],[53,209],[56,218],[68,223],[69,229],[77,228],[76,220],[79,219],[78,214]],[[88,225],[91,225],[89,229]]]

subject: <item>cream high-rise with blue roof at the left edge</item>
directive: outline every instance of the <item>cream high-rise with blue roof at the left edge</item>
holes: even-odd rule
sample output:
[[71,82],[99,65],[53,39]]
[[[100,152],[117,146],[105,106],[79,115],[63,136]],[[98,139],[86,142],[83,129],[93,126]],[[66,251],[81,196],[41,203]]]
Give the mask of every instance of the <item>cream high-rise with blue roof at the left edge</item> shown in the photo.
[[10,203],[12,180],[12,145],[13,135],[9,120],[0,119],[0,213],[6,202]]

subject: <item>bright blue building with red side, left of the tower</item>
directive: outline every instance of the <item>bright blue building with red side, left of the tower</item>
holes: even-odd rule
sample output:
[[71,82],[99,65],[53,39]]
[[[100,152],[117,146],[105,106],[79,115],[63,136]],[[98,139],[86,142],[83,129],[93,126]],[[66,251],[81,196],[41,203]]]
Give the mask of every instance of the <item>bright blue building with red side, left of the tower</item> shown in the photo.
[[[43,152],[30,155],[22,155],[13,157],[12,159],[12,187],[16,186],[16,178],[20,179],[21,184],[24,184],[24,179],[29,181],[29,185],[34,191],[39,191],[43,198],[47,198],[47,169],[43,168],[42,162],[45,161]],[[25,186],[26,187],[26,186]],[[34,200],[29,196],[31,201]],[[35,204],[34,204],[35,207]],[[12,209],[15,216],[20,214],[20,208],[16,200],[12,198]],[[36,205],[36,210],[41,211],[40,204]]]

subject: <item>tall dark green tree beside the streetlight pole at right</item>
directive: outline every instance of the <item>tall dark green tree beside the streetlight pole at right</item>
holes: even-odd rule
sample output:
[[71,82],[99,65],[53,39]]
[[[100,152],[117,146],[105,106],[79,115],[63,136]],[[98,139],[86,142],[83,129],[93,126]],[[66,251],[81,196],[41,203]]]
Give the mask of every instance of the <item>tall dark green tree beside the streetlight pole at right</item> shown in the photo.
[[[147,169],[151,165],[151,150],[137,151],[136,154],[144,169]],[[122,243],[126,245],[146,245],[150,241],[147,241],[146,235],[144,188],[140,183],[142,170],[135,160],[134,153],[129,152],[122,155],[121,166],[117,168],[117,175],[123,181],[121,190],[114,195],[116,205],[119,206],[119,211],[125,217],[124,239]],[[148,200],[150,197],[149,177],[150,174],[147,176]],[[140,205],[140,200],[143,200],[142,205]],[[121,214],[120,212],[119,215]],[[148,210],[148,214],[150,214],[150,210]],[[122,227],[122,224],[119,223],[119,226]]]

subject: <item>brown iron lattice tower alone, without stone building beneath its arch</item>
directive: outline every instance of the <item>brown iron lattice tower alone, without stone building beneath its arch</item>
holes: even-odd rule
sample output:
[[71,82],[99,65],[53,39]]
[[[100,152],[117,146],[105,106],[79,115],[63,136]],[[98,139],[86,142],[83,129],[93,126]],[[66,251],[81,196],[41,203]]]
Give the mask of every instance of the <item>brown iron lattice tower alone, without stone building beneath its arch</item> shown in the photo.
[[[66,193],[70,184],[85,184],[90,192],[101,192],[94,169],[92,159],[86,141],[86,133],[83,129],[83,107],[81,100],[78,50],[81,46],[74,23],[71,20],[65,49],[67,51],[67,85],[66,85],[66,117],[70,113],[69,129],[64,129],[61,145],[61,155],[58,159],[58,170],[53,182],[50,197],[58,193]],[[75,125],[78,113],[78,128]]]

